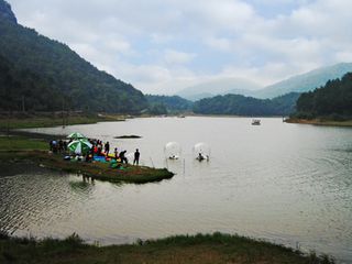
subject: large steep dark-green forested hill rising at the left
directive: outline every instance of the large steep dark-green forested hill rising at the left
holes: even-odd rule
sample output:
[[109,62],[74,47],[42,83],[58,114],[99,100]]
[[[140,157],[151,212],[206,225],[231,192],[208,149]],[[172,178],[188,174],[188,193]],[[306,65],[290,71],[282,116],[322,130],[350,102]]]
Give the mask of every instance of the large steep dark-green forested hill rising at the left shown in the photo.
[[[18,24],[3,0],[0,55],[1,92],[12,90],[7,103],[1,97],[2,110],[20,110],[19,101],[26,110],[62,110],[65,106],[70,110],[135,113],[147,108],[143,94],[131,85],[98,70],[67,45]],[[31,85],[24,84],[23,75]]]

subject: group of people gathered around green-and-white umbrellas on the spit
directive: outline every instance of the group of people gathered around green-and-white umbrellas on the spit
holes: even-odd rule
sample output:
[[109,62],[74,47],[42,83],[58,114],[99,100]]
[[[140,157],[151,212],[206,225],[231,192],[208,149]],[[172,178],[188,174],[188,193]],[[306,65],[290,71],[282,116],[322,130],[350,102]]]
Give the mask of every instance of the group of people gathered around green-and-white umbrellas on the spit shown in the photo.
[[[68,144],[72,142],[64,141],[64,140],[52,140],[50,141],[50,151],[53,153],[67,153],[68,152]],[[117,162],[128,164],[127,151],[118,151],[118,147],[114,147],[113,153],[110,154],[110,143],[109,141],[102,142],[96,139],[88,139],[88,142],[91,144],[91,148],[89,152],[85,153],[85,161],[91,162],[95,160],[95,156],[105,157],[106,161],[110,161],[114,158]],[[141,153],[139,148],[134,152],[134,160],[133,165],[140,164],[140,156]]]

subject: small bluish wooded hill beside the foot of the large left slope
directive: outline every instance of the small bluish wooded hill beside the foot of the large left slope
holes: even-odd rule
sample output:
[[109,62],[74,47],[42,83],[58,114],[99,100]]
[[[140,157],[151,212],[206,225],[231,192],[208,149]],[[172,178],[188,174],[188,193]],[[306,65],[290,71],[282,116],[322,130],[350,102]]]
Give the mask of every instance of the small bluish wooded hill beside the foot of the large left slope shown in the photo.
[[[180,113],[191,111],[193,101],[178,96],[145,96],[150,103],[151,113]],[[163,112],[163,111],[164,112]]]

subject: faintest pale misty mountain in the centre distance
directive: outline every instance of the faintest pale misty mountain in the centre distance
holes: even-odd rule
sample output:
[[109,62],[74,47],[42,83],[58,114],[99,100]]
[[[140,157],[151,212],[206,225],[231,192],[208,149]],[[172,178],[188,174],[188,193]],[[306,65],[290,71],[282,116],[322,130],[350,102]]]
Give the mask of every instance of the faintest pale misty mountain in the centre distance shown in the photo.
[[185,88],[178,91],[177,96],[196,101],[226,94],[250,95],[251,90],[258,88],[260,86],[255,82],[243,78],[223,78]]

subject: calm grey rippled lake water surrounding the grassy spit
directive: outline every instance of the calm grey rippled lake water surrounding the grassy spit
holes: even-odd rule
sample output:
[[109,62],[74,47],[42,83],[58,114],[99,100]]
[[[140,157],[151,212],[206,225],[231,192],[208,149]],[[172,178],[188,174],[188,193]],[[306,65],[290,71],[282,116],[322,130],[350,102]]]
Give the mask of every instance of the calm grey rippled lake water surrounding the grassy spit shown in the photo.
[[[111,148],[141,151],[144,165],[173,179],[146,185],[85,182],[25,166],[0,177],[0,227],[15,235],[78,233],[102,244],[213,231],[316,250],[352,263],[352,129],[248,118],[148,118],[35,129],[79,131]],[[116,140],[136,134],[142,139]],[[176,141],[182,158],[166,162]],[[193,146],[207,142],[209,162]]]

